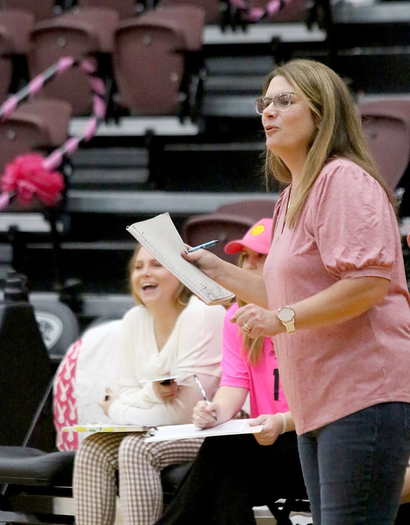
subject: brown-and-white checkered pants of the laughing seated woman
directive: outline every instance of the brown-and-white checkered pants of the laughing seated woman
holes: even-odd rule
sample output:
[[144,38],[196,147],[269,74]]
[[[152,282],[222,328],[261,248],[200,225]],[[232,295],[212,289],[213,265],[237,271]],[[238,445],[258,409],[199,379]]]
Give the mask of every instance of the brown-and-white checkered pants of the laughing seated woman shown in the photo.
[[203,438],[146,443],[142,434],[97,433],[76,453],[73,495],[77,525],[112,525],[119,471],[126,525],[152,525],[162,514],[161,470],[194,459]]

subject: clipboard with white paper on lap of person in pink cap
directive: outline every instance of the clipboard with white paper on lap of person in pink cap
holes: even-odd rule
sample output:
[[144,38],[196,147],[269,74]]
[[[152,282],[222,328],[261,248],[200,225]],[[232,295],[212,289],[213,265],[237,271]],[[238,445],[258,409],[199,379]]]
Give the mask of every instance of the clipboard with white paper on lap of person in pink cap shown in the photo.
[[188,439],[190,437],[227,436],[234,434],[257,434],[263,425],[249,426],[253,419],[229,419],[212,428],[198,428],[194,424],[164,425],[151,428],[145,441],[166,441],[169,439]]

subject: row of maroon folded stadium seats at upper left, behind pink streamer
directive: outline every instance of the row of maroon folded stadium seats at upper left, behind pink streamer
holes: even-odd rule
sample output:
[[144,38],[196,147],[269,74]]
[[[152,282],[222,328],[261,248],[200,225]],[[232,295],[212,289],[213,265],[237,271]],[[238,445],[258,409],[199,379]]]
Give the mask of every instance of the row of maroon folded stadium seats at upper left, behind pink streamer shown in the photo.
[[[204,23],[204,10],[192,5],[164,6],[124,20],[100,7],[40,22],[28,12],[0,10],[0,95],[4,100],[13,81],[17,87],[32,80],[62,57],[88,58],[122,111],[186,114],[198,86]],[[39,96],[69,102],[73,116],[91,111],[92,90],[79,70],[53,78]]]

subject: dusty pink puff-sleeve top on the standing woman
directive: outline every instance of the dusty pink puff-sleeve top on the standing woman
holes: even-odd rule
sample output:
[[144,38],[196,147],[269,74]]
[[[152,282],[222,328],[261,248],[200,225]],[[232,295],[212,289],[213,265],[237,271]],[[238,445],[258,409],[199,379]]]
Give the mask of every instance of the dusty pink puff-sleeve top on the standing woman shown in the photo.
[[296,227],[284,226],[289,187],[274,212],[264,267],[269,308],[306,299],[339,279],[384,277],[384,301],[330,328],[274,338],[298,434],[362,408],[410,402],[410,298],[394,211],[373,177],[347,160],[327,164]]

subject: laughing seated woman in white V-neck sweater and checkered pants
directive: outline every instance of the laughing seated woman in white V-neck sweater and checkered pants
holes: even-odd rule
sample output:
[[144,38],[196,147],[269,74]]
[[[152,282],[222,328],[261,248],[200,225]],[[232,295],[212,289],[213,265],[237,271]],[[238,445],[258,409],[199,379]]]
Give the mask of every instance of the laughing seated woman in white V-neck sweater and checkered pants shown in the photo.
[[[125,313],[117,344],[119,391],[99,404],[113,423],[171,425],[191,421],[201,392],[218,386],[225,309],[206,306],[138,245],[130,262],[140,304]],[[98,370],[96,370],[98,373]],[[149,381],[176,375],[173,381]],[[97,433],[79,446],[73,473],[77,525],[112,525],[117,497],[124,522],[152,525],[161,516],[161,470],[193,459],[202,438],[145,443],[143,433]]]

